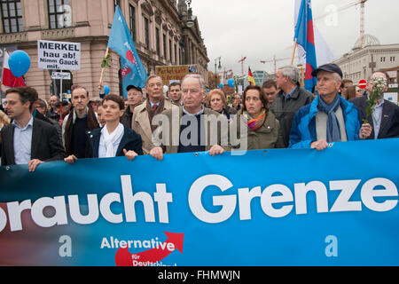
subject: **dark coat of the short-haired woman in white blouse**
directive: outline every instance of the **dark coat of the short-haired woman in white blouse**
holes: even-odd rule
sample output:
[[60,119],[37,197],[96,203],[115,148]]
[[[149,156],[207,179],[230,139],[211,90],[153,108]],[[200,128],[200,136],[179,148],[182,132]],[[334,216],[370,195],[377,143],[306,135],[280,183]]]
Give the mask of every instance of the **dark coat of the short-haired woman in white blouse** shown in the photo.
[[[124,156],[125,154],[123,154],[123,149],[126,149],[127,151],[130,150],[135,151],[137,154],[142,155],[143,142],[141,140],[141,136],[137,134],[134,130],[129,129],[126,126],[124,126],[123,128],[124,128],[124,133],[123,137],[121,138],[121,143],[119,144],[118,150],[116,151],[116,156],[117,157]],[[98,128],[96,130],[90,130],[86,132],[86,135],[90,140],[90,146],[91,146],[90,158],[98,158],[98,148],[99,148],[99,141],[101,138],[101,130],[102,128]]]

